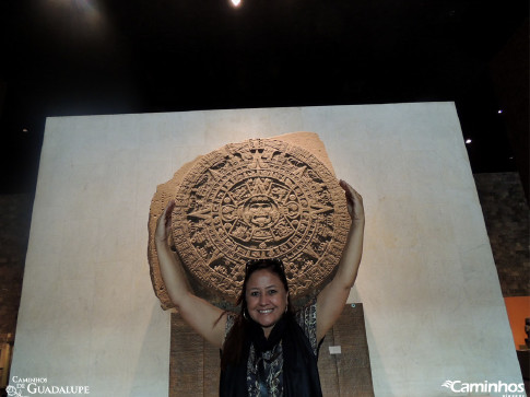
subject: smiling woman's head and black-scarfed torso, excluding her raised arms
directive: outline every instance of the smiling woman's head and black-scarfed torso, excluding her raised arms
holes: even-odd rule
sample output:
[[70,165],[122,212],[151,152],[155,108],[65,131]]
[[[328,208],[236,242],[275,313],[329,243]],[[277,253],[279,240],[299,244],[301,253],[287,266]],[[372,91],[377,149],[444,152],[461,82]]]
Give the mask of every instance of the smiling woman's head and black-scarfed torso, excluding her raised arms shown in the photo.
[[282,261],[247,262],[238,302],[243,316],[227,318],[221,395],[320,396],[316,305],[294,313]]

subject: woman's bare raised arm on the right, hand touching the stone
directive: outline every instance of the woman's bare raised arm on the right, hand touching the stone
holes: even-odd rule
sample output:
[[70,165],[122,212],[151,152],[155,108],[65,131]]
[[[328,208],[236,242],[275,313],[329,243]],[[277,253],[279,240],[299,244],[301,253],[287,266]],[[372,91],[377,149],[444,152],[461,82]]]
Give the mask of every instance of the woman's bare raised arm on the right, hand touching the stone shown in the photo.
[[350,290],[357,277],[363,254],[364,207],[363,198],[344,180],[340,182],[348,202],[352,225],[339,268],[333,279],[317,296],[317,340],[322,339],[344,308]]

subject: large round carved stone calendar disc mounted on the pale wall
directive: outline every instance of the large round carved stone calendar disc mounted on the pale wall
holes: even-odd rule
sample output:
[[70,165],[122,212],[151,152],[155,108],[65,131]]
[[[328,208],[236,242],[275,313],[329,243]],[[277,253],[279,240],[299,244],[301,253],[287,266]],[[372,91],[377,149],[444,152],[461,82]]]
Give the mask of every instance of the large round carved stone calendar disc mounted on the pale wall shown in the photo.
[[196,293],[225,307],[240,293],[245,264],[257,258],[281,258],[293,301],[307,300],[332,275],[350,227],[343,190],[318,136],[227,144],[179,170],[153,198],[149,259],[165,307],[170,302],[152,236],[170,198],[177,258]]

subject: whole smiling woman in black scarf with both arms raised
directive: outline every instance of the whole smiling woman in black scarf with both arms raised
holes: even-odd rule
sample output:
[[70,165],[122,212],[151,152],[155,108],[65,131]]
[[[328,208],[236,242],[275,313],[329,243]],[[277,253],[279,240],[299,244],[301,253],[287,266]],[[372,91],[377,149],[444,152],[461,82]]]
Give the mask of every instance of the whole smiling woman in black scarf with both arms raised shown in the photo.
[[342,313],[363,252],[363,199],[344,180],[340,186],[352,225],[339,268],[316,301],[296,314],[278,259],[247,264],[235,318],[193,295],[167,244],[175,203],[160,217],[155,245],[162,278],[184,320],[222,350],[221,396],[321,396],[318,345]]

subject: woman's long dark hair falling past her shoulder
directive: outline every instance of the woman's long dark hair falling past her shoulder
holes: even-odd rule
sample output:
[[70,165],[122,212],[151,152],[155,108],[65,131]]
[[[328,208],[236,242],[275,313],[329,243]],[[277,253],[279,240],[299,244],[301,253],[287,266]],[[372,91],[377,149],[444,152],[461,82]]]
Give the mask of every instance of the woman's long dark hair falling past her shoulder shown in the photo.
[[[245,280],[243,281],[242,292],[237,299],[237,305],[240,305],[240,312],[234,319],[234,325],[226,336],[221,354],[221,369],[225,370],[228,364],[239,364],[244,357],[243,347],[246,340],[246,332],[248,331],[249,322],[251,322],[247,311],[247,282],[250,276],[257,270],[269,270],[276,275],[282,281],[285,291],[288,293],[287,278],[285,277],[285,269],[280,259],[256,259],[247,262],[245,267]],[[287,316],[294,313],[291,304],[291,297],[287,295]]]

